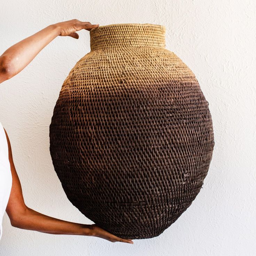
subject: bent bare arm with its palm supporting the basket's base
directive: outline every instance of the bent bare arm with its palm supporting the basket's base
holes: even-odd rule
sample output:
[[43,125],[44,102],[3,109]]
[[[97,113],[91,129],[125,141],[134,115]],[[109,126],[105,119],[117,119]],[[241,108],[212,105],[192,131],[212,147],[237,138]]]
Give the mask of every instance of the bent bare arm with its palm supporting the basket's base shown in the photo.
[[[5,131],[6,133],[6,131]],[[22,187],[13,162],[11,144],[6,133],[9,150],[9,162],[13,184],[7,204],[6,212],[10,218],[11,225],[20,229],[35,230],[49,234],[68,234],[68,235],[89,235],[103,238],[111,242],[133,243],[129,239],[122,239],[101,229],[96,225],[85,225],[63,221],[52,218],[37,211],[34,211],[25,205]]]

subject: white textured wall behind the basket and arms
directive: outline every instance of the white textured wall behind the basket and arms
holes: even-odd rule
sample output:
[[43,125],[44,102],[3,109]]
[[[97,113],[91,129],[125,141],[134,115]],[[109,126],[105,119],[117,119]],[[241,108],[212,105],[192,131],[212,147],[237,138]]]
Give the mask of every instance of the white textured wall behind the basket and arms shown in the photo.
[[[134,245],[12,227],[7,215],[1,256],[255,255],[256,26],[249,0],[8,0],[0,5],[0,53],[60,21],[166,26],[166,48],[193,70],[213,118],[215,148],[203,189],[162,235]],[[20,74],[0,86],[0,120],[9,133],[27,205],[44,214],[91,223],[67,200],[49,153],[49,124],[62,82],[89,50],[58,37]]]

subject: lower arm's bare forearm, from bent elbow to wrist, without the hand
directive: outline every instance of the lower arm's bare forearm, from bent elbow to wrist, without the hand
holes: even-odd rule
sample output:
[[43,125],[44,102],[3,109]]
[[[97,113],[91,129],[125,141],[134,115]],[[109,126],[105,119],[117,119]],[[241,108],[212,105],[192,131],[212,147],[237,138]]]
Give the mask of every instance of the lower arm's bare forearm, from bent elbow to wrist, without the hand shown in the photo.
[[79,224],[56,219],[26,208],[22,214],[11,219],[11,225],[20,229],[49,234],[94,235],[93,225]]

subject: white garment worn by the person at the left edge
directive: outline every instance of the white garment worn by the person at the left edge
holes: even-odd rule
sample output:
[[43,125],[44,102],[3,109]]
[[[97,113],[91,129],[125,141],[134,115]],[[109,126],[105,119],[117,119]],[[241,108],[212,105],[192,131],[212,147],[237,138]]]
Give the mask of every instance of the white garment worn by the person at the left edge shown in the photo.
[[5,130],[0,123],[0,239],[2,237],[2,218],[11,192],[11,168],[8,157],[8,144]]

